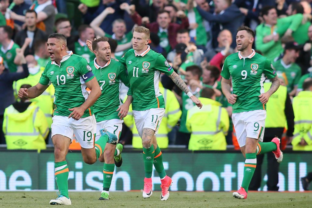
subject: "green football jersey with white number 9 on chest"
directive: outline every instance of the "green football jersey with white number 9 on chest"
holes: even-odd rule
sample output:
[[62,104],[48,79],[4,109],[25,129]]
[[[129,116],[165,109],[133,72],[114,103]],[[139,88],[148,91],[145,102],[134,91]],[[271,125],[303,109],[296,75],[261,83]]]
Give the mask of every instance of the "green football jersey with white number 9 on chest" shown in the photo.
[[266,57],[254,50],[247,57],[242,57],[240,52],[231,54],[224,61],[221,76],[227,80],[232,77],[233,94],[237,95],[233,113],[266,109],[259,95],[264,93],[266,77],[272,79],[276,76],[271,61]]

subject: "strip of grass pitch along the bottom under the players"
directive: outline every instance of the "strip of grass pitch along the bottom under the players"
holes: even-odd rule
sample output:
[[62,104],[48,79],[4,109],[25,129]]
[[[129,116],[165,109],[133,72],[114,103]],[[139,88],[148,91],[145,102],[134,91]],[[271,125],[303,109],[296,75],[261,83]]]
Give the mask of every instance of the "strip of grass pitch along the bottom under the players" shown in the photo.
[[[249,192],[244,200],[232,192],[170,192],[168,201],[160,201],[160,191],[143,199],[142,192],[110,192],[109,201],[100,201],[99,192],[70,192],[71,207],[311,207],[311,192]],[[53,207],[55,192],[0,192],[0,207]],[[58,207],[58,206],[57,206]]]

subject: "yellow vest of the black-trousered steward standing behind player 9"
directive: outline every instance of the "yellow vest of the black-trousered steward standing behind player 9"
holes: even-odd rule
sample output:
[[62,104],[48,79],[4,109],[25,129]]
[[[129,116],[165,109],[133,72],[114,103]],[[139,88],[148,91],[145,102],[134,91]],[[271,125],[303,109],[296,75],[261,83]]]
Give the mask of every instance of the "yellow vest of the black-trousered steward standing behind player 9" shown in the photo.
[[[265,92],[271,87],[271,82],[263,84]],[[266,104],[266,128],[284,128],[286,125],[285,102],[287,98],[287,87],[280,85],[271,95]]]

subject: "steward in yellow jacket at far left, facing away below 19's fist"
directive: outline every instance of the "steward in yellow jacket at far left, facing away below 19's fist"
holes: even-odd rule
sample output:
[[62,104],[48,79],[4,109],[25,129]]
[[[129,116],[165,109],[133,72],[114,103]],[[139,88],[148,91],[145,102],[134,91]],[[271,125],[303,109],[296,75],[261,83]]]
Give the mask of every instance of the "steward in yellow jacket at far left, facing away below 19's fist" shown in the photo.
[[[28,87],[30,85],[22,85],[22,88]],[[49,127],[44,113],[36,103],[27,102],[29,99],[21,100],[4,111],[2,129],[7,149],[46,149]]]

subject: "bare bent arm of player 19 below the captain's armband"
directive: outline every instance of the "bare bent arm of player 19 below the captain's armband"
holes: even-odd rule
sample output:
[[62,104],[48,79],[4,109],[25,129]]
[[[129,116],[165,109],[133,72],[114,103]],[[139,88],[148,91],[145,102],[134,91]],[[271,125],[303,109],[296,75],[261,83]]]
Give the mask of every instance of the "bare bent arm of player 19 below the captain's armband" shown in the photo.
[[93,77],[90,81],[86,82],[85,84],[91,90],[91,92],[88,98],[80,107],[69,109],[72,112],[68,116],[68,118],[72,117],[75,120],[79,120],[81,116],[85,113],[85,110],[90,108],[95,103],[95,101],[100,97],[101,89],[95,77]]

